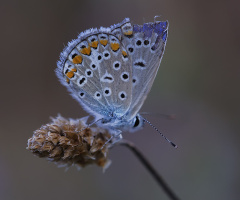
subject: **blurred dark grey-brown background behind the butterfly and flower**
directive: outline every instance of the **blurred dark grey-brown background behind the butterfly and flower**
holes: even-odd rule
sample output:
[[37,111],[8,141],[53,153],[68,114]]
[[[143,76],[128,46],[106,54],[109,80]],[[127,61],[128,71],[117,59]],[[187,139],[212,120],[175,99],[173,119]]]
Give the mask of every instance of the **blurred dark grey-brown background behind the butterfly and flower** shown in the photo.
[[87,115],[57,80],[64,45],[91,27],[169,20],[160,70],[142,111],[148,119],[125,133],[181,199],[240,198],[240,3],[236,0],[0,1],[0,199],[168,199],[125,147],[96,166],[67,172],[27,151],[27,139],[50,116]]

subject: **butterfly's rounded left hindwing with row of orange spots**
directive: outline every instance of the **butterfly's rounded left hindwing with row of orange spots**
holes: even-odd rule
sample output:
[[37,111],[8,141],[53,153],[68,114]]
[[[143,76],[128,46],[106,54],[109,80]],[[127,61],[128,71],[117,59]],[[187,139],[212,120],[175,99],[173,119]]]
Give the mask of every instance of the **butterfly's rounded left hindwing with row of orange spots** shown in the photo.
[[90,29],[68,43],[56,74],[96,118],[124,115],[131,104],[131,58],[110,28]]

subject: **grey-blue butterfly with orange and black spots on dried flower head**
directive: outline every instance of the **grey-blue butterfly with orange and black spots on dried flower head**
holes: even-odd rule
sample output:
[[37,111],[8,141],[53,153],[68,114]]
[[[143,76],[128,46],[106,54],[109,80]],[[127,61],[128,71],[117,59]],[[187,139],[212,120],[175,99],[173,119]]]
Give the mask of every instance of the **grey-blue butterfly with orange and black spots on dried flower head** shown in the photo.
[[147,121],[139,110],[156,77],[167,35],[168,21],[133,25],[129,18],[86,30],[64,48],[56,74],[95,117],[94,123],[115,136],[137,131]]

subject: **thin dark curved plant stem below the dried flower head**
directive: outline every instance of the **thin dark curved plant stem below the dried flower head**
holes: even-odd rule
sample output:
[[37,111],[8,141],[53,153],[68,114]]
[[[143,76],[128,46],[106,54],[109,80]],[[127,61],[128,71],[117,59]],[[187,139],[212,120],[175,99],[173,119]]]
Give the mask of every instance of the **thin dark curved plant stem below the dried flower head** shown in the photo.
[[157,181],[160,187],[165,191],[165,193],[168,195],[168,197],[171,200],[179,200],[179,198],[174,194],[174,192],[169,188],[169,186],[166,184],[166,182],[163,180],[163,178],[158,174],[158,172],[153,168],[153,166],[150,164],[150,162],[143,156],[143,154],[137,149],[137,147],[127,141],[127,140],[120,140],[117,144],[126,146],[130,150],[133,151],[133,153],[137,156],[137,158],[142,162],[142,164],[146,167],[146,169],[152,174],[153,178]]

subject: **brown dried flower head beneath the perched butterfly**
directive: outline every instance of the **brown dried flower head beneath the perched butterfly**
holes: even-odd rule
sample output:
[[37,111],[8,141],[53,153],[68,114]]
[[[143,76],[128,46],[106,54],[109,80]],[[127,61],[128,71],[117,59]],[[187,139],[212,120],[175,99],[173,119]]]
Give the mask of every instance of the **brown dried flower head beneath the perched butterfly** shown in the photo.
[[34,131],[27,149],[59,166],[96,164],[105,169],[110,164],[107,156],[111,143],[103,145],[111,135],[102,128],[86,128],[86,121],[87,118],[52,118],[52,123]]

